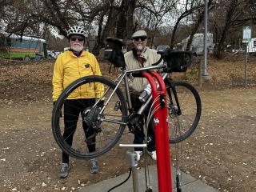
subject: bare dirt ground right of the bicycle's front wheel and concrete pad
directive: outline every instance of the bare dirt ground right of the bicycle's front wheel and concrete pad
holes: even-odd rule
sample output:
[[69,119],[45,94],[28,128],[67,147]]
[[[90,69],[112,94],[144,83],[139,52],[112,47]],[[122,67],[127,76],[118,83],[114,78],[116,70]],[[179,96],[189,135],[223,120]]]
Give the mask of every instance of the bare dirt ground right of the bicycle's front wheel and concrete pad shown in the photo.
[[202,119],[183,143],[184,170],[221,191],[256,191],[256,89],[200,95]]

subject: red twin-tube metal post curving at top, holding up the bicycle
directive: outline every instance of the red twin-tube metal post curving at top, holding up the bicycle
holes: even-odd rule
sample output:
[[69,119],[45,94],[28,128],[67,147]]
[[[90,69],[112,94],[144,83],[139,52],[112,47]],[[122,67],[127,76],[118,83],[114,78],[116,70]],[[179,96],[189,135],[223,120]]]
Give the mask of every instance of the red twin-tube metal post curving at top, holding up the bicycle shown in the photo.
[[[143,72],[149,82],[152,90],[152,101],[154,102],[154,134],[157,151],[158,166],[158,192],[171,192],[171,171],[170,171],[170,143],[167,124],[167,108],[166,108],[166,86],[162,80],[162,76],[157,72]],[[154,78],[158,81],[159,90]],[[161,101],[162,99],[162,101]],[[162,105],[165,104],[165,105]]]

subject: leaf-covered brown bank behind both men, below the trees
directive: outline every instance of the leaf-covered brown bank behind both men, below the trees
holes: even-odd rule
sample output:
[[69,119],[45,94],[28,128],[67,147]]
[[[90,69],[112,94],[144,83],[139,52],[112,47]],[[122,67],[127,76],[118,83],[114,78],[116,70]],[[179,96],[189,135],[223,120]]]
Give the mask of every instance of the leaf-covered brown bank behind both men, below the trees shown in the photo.
[[[210,79],[203,82],[203,86],[212,89],[225,89],[244,85],[245,58],[242,54],[227,54],[222,60],[209,57],[208,73]],[[98,59],[102,74],[114,79],[118,75],[118,68],[114,68],[106,60]],[[186,73],[171,74],[174,79],[183,79],[198,84],[199,59],[194,58],[192,66]],[[51,93],[51,79],[54,61],[20,62],[0,60],[0,100],[16,98],[34,98],[33,94],[43,96]],[[251,56],[247,64],[247,85],[256,85],[256,57]],[[209,86],[210,85],[210,86]],[[46,90],[49,93],[46,94]]]

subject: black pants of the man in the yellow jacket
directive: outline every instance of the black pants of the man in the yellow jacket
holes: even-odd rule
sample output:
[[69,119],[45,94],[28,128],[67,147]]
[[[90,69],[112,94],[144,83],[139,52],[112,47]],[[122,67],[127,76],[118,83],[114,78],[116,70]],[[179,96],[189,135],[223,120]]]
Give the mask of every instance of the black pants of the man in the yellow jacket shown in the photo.
[[[63,138],[66,143],[72,146],[74,132],[77,129],[79,114],[89,106],[95,104],[95,98],[68,99],[64,102],[64,134]],[[86,134],[86,138],[94,134],[92,129],[82,122],[82,128]],[[95,138],[94,138],[95,139]],[[95,141],[93,141],[95,143]],[[95,144],[87,145],[89,152],[95,151]],[[62,151],[62,162],[69,163],[69,155]]]

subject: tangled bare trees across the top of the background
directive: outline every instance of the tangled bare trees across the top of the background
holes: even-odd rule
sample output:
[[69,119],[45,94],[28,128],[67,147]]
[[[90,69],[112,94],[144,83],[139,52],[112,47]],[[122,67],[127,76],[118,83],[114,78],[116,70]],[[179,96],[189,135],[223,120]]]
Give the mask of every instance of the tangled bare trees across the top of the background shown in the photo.
[[[210,13],[210,28],[214,30],[219,57],[229,31],[244,22],[255,22],[256,5],[254,0],[214,2],[218,6]],[[89,38],[95,39],[95,54],[104,46],[106,37],[130,38],[139,28],[146,29],[151,36],[150,46],[154,46],[159,35],[170,35],[170,45],[174,46],[184,32],[178,33],[179,29],[185,28],[190,29],[192,41],[203,18],[201,0],[0,0],[0,3],[0,22],[7,33],[46,38],[54,29],[66,36],[67,28],[80,25],[86,28]],[[175,22],[168,28],[170,20]]]

